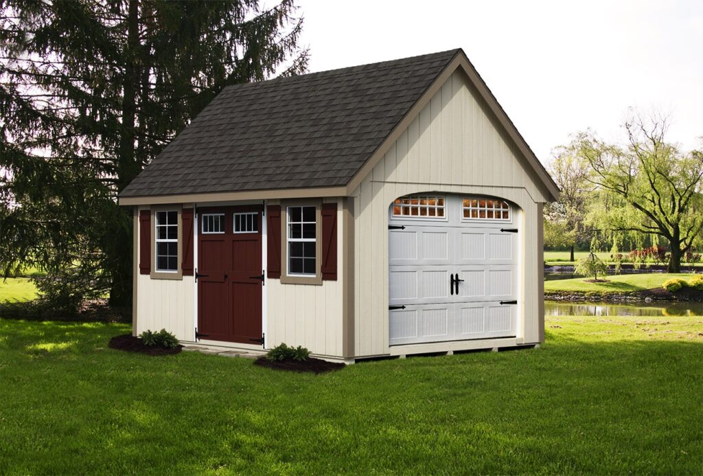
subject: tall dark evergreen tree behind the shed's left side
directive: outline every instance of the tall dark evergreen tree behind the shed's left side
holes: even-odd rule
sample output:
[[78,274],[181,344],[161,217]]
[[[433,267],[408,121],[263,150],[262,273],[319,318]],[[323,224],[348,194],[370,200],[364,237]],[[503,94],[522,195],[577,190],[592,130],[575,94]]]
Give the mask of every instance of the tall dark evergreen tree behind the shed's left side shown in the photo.
[[228,84],[307,69],[293,0],[0,0],[0,269],[131,299],[117,193]]

